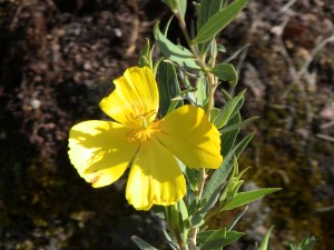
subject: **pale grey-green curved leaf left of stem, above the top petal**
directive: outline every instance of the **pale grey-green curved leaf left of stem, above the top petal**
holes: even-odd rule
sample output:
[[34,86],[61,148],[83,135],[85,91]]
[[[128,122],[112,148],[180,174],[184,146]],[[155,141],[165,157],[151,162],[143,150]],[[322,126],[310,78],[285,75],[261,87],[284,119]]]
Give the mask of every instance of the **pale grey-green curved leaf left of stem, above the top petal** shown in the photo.
[[154,28],[155,39],[163,54],[173,62],[176,62],[181,68],[199,69],[195,62],[194,54],[181,46],[176,46],[165,37],[159,30],[159,24]]

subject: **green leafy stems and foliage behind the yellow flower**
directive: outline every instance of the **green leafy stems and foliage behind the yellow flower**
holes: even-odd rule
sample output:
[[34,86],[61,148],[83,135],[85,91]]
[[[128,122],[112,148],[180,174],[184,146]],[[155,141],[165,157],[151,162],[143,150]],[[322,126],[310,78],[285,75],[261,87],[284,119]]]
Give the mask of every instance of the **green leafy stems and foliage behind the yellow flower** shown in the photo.
[[[187,1],[163,1],[170,8],[179,22],[188,44],[180,46],[167,38],[171,19],[163,31],[156,23],[154,36],[163,57],[154,63],[153,48],[147,42],[140,52],[139,66],[156,69],[161,116],[168,114],[184,102],[206,110],[212,123],[220,132],[224,161],[215,170],[187,168],[179,161],[187,180],[186,197],[174,206],[155,207],[153,211],[166,221],[168,230],[163,229],[163,231],[171,249],[223,249],[245,234],[233,231],[233,228],[245,214],[247,204],[281,190],[279,188],[262,188],[240,191],[245,181],[243,177],[248,168],[239,171],[238,158],[254,133],[239,138],[239,131],[244,126],[257,119],[257,117],[242,119],[240,109],[245,102],[245,90],[236,96],[230,96],[226,90],[222,90],[225,103],[220,109],[214,107],[214,93],[219,81],[229,82],[232,86],[238,82],[238,74],[229,61],[246,48],[246,46],[240,48],[230,58],[218,62],[218,53],[226,52],[226,48],[217,44],[215,38],[237,17],[248,0],[202,0],[197,2],[198,19],[195,20],[196,28],[191,32],[188,32],[185,22]],[[195,38],[191,40],[191,37]],[[223,229],[207,229],[207,222],[213,217],[237,208],[239,208],[238,214]],[[268,248],[272,229],[266,233],[258,250]],[[132,240],[140,249],[154,249],[139,238]],[[312,240],[304,240],[298,246],[292,246],[292,250],[310,250],[313,243]]]

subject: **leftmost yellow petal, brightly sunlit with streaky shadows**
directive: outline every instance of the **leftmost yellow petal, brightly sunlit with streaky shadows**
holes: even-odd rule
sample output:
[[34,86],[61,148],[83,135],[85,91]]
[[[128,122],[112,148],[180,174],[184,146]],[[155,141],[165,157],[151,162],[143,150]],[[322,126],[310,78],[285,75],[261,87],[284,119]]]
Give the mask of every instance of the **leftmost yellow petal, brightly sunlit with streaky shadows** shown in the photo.
[[125,172],[139,143],[127,140],[129,129],[109,121],[84,121],[69,134],[69,158],[92,187],[112,183]]

